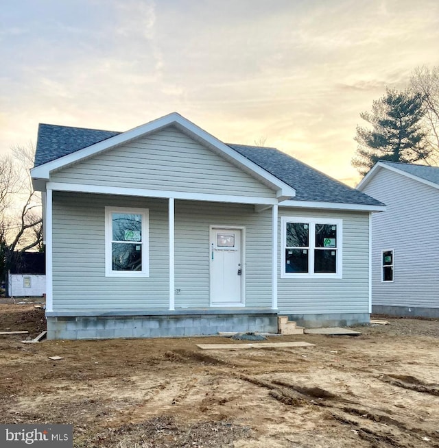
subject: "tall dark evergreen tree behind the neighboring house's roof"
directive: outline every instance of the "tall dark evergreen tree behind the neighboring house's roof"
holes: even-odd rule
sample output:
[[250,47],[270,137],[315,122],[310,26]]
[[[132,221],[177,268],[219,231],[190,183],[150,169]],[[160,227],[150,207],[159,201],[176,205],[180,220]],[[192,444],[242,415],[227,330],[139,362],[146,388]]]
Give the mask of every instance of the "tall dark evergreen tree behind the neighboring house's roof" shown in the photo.
[[425,161],[431,149],[422,128],[423,97],[420,93],[386,89],[373,101],[372,112],[361,112],[372,129],[357,126],[357,157],[352,160],[361,175],[379,160],[412,163]]

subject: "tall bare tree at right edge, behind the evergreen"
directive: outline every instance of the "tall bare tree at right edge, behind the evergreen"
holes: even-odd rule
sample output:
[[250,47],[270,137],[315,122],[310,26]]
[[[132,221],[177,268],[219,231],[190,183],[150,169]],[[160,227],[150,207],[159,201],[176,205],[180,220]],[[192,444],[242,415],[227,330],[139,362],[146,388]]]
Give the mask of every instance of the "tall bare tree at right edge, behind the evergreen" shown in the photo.
[[431,161],[439,162],[439,66],[429,69],[417,67],[410,79],[412,88],[423,98],[425,115],[423,124]]

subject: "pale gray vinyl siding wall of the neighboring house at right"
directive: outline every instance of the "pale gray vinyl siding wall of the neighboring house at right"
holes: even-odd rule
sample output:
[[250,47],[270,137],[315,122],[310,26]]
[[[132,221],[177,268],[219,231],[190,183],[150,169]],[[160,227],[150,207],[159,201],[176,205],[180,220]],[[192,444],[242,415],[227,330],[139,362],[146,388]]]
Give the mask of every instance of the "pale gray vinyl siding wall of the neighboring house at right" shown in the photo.
[[[372,216],[372,304],[439,308],[439,190],[381,169],[364,192],[387,205]],[[394,282],[381,282],[383,249]]]

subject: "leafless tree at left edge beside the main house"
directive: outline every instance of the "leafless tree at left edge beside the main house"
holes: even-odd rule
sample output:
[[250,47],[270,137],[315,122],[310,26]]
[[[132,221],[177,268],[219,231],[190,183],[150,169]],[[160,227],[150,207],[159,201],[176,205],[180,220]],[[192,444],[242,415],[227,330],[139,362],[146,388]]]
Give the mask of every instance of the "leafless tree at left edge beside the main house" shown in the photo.
[[13,147],[12,156],[0,159],[0,279],[17,253],[43,249],[41,200],[29,173],[33,160],[32,145]]

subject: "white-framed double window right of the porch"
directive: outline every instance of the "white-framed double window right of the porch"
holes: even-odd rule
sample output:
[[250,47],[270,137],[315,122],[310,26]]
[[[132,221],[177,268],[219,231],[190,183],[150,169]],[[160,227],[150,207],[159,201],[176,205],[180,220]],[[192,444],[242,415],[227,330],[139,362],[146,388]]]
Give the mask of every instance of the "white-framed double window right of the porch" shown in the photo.
[[282,218],[281,277],[342,277],[342,220]]

